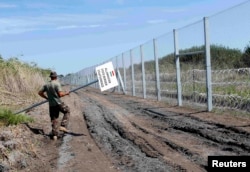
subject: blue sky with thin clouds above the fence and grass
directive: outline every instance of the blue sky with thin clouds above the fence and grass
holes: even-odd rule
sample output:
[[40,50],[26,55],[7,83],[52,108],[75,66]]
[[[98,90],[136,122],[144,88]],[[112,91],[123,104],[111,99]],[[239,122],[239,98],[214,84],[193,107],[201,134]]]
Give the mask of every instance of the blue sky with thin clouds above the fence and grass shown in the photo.
[[76,73],[246,0],[0,0],[0,55]]

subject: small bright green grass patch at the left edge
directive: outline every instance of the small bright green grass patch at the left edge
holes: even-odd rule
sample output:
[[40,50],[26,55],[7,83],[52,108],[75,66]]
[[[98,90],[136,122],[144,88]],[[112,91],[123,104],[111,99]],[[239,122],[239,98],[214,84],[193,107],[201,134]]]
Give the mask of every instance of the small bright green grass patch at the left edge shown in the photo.
[[15,115],[9,109],[0,109],[0,125],[9,126],[27,122],[34,122],[34,119],[22,114]]

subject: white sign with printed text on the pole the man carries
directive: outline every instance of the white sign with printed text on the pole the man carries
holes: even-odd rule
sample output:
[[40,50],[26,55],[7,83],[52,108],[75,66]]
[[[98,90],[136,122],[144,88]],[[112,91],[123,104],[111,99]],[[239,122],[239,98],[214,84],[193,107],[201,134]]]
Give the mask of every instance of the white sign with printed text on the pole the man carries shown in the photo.
[[95,68],[101,91],[118,86],[112,62],[105,63]]

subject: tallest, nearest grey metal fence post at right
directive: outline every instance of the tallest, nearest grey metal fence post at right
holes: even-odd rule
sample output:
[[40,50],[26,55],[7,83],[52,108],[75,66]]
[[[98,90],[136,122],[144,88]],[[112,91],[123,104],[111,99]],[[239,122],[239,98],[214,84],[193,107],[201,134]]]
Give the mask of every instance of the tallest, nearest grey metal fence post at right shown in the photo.
[[209,41],[209,26],[208,18],[204,17],[204,36],[205,36],[205,55],[206,55],[206,84],[207,84],[207,110],[210,112],[213,109],[212,105],[212,79],[211,79],[211,55]]

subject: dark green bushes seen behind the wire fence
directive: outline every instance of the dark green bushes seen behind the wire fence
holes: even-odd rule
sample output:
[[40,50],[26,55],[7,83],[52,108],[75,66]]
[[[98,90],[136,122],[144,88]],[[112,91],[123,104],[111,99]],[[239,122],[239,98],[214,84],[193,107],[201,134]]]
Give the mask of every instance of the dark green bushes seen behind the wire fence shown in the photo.
[[[204,46],[194,46],[185,50],[180,50],[179,53],[204,51],[204,49]],[[222,45],[211,45],[210,52],[213,70],[250,67],[250,43],[246,46],[244,52]],[[204,53],[183,55],[180,58],[180,65],[182,71],[189,70],[190,66],[195,66],[195,69],[204,69]],[[141,64],[134,65],[134,69],[135,73],[141,71]],[[159,58],[159,69],[160,73],[175,71],[175,57],[173,53]],[[154,60],[145,62],[145,71],[147,73],[155,72]]]

